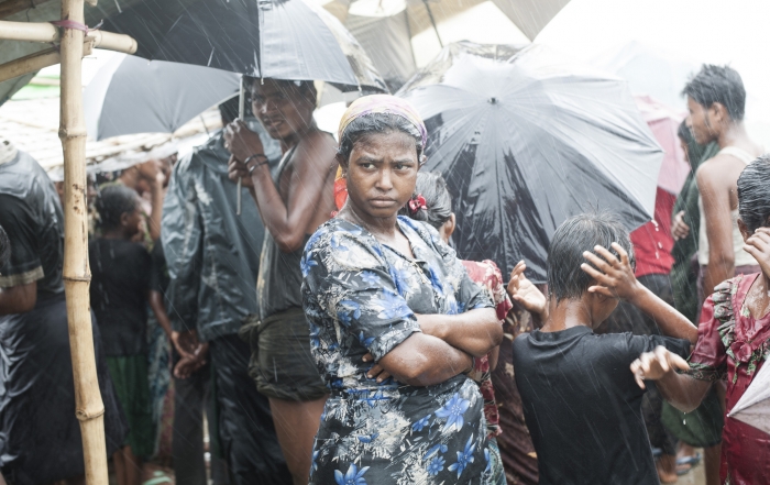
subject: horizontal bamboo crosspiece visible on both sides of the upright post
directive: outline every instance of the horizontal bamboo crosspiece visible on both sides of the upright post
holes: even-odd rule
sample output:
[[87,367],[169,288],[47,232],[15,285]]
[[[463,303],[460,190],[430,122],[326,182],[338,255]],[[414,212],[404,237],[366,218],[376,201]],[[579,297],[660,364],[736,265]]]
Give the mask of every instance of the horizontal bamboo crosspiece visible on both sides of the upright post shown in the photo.
[[[0,20],[0,38],[7,41],[56,43],[59,41],[59,27],[48,22],[9,22]],[[88,36],[94,37],[95,47],[109,48],[110,51],[125,54],[136,52],[136,41],[125,34],[94,30],[88,32]]]

